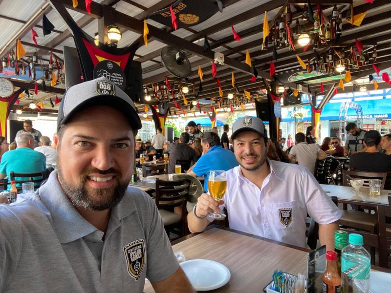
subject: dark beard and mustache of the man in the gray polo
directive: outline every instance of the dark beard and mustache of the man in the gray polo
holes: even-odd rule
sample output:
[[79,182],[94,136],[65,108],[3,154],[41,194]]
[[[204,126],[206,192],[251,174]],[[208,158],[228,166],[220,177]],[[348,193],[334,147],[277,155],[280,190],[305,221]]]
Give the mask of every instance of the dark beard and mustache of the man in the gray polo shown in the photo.
[[[79,186],[70,186],[65,182],[63,173],[61,171],[60,164],[58,169],[58,179],[65,194],[70,199],[70,202],[74,207],[79,207],[87,210],[105,210],[114,208],[124,197],[125,191],[128,188],[129,180],[119,181],[117,185],[112,188],[96,189],[94,190],[94,196],[91,196],[90,192],[84,186],[87,181],[86,172],[80,176]],[[95,169],[93,173],[107,174],[115,173],[115,178],[121,178],[121,174],[113,169],[106,171]],[[88,172],[91,173],[91,172]]]

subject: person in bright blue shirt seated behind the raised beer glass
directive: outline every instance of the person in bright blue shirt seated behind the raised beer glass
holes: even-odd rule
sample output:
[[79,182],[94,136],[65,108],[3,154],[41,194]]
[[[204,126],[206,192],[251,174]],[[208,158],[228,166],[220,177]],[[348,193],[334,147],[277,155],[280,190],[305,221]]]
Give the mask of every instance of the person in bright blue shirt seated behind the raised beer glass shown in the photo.
[[239,163],[232,151],[221,146],[220,138],[215,132],[204,132],[201,139],[201,145],[202,156],[187,173],[195,177],[204,176],[204,189],[207,192],[209,171],[228,171],[229,169],[239,166]]

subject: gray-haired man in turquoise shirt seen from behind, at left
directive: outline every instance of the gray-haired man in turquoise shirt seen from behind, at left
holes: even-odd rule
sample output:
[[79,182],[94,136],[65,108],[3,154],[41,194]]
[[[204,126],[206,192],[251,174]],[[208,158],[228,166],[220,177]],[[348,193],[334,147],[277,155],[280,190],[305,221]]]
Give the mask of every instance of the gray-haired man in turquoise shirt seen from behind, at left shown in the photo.
[[[18,147],[7,151],[1,157],[0,179],[9,177],[11,171],[17,173],[37,173],[46,169],[45,155],[33,150],[34,137],[27,132],[22,132],[16,137]],[[17,180],[20,180],[18,178]]]

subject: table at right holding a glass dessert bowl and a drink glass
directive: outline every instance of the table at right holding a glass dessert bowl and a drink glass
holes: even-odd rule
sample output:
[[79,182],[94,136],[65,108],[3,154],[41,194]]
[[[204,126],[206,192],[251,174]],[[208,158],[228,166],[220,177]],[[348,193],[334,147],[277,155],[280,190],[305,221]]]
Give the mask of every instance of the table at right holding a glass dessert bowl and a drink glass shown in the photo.
[[360,188],[360,193],[353,193],[350,186],[321,184],[328,196],[336,196],[339,203],[361,205],[375,209],[377,217],[377,238],[379,243],[379,266],[388,268],[387,231],[385,209],[390,208],[388,194],[391,190],[382,189],[380,195],[369,195],[369,188]]

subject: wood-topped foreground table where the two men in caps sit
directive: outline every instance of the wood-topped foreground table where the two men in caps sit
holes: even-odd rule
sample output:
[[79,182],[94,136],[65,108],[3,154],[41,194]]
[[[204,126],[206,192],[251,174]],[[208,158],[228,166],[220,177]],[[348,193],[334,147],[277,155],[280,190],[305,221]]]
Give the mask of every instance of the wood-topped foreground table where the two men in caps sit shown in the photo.
[[[309,250],[216,225],[174,241],[173,250],[182,251],[186,260],[209,259],[228,268],[229,282],[208,292],[261,293],[270,283],[274,270],[307,275]],[[371,268],[391,272],[376,266]],[[145,282],[144,292],[154,292],[149,281]]]

